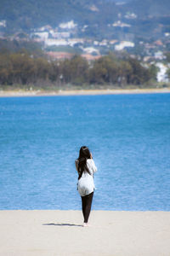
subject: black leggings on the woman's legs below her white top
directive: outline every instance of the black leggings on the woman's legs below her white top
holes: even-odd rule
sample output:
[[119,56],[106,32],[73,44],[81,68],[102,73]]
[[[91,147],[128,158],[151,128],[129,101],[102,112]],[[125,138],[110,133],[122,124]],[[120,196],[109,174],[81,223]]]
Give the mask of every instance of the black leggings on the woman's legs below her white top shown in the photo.
[[85,223],[88,223],[88,217],[90,215],[93,196],[94,192],[90,193],[89,195],[82,196],[82,214]]

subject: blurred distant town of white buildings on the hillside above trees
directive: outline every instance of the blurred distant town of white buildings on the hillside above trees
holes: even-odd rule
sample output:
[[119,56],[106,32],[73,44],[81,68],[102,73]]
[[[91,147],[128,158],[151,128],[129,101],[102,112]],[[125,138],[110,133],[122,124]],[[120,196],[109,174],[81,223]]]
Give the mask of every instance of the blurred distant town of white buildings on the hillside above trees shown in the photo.
[[[125,18],[127,20],[135,20],[137,15],[127,13]],[[0,39],[7,39],[2,32],[5,26],[6,20],[0,20]],[[107,26],[122,29],[132,25],[122,22],[120,17],[120,20],[116,20],[116,22]],[[65,23],[59,23],[59,26],[56,27],[46,25],[32,29],[29,34],[15,32],[8,39],[40,43],[42,49],[53,60],[71,59],[77,53],[88,61],[93,61],[99,59],[102,55],[108,54],[110,51],[121,52],[126,50],[131,57],[142,60],[146,64],[156,65],[158,68],[158,82],[167,83],[169,81],[167,69],[170,68],[170,63],[165,61],[167,53],[165,45],[170,44],[170,32],[164,32],[163,38],[157,38],[155,41],[152,40],[152,42],[146,40],[135,42],[133,38],[130,40],[128,37],[127,40],[124,38],[123,40],[117,38],[97,40],[86,36],[84,38],[83,36],[77,36],[80,32],[83,35],[83,32],[86,32],[87,29],[88,25],[79,26],[74,20],[70,20]]]

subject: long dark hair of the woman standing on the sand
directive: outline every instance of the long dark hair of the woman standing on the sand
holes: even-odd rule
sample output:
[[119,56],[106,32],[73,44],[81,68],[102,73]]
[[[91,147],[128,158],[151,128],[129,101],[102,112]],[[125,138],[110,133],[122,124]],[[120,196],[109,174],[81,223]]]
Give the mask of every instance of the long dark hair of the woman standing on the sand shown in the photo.
[[[87,160],[91,159],[91,154],[86,146],[82,146],[79,151],[79,157],[78,157],[78,179],[82,177],[82,172],[88,172],[88,166],[87,166]],[[91,174],[90,174],[91,175]]]

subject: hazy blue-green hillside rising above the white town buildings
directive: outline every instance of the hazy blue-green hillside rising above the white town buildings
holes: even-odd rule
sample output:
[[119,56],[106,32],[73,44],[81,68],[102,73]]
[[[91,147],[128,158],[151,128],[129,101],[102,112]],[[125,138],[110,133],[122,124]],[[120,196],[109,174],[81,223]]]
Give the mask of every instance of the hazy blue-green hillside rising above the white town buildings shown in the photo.
[[[122,1],[123,2],[123,1]],[[0,20],[6,20],[8,34],[31,32],[32,29],[74,20],[77,36],[89,38],[160,38],[170,31],[169,0],[132,0],[117,5],[113,0],[0,0]],[[127,19],[126,14],[137,15]],[[108,26],[117,20],[129,27]],[[86,32],[82,26],[88,25]],[[127,35],[127,36],[125,36]]]

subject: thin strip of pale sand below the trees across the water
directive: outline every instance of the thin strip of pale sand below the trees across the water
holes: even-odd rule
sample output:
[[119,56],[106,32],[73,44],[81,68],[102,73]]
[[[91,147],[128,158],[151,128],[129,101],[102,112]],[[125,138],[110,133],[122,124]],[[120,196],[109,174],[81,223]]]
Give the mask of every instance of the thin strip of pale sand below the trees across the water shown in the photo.
[[106,90],[0,90],[0,97],[12,96],[81,96],[81,95],[116,95],[170,93],[170,88],[161,89],[106,89]]

